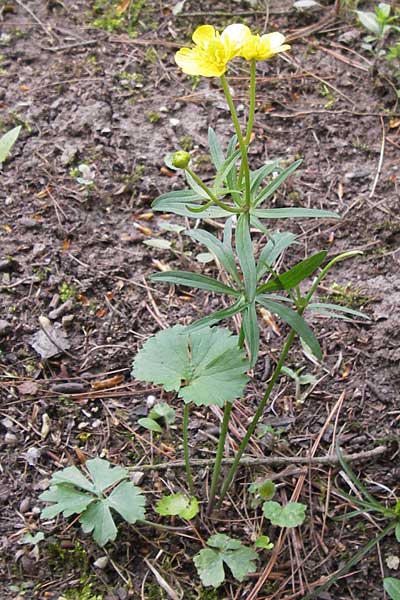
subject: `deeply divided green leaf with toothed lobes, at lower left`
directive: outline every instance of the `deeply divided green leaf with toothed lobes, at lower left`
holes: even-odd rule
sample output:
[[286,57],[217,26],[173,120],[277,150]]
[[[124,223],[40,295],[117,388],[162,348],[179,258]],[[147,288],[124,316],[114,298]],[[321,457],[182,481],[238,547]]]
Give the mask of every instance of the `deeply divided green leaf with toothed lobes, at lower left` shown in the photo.
[[[60,513],[64,517],[78,514],[83,531],[93,532],[97,544],[104,546],[117,535],[110,509],[128,523],[135,523],[144,518],[145,497],[133,483],[123,481],[129,477],[126,469],[113,467],[101,458],[88,460],[86,467],[92,481],[77,467],[67,467],[53,475],[50,488],[40,496],[52,504],[42,510],[41,517],[52,519]],[[107,495],[113,486],[116,487]]]

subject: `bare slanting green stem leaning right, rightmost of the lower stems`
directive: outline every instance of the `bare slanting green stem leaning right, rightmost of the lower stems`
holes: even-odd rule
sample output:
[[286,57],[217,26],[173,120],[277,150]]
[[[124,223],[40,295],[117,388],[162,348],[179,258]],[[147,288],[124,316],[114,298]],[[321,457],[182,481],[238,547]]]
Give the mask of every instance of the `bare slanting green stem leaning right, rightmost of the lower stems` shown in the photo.
[[275,383],[276,383],[276,381],[277,381],[277,379],[278,379],[278,377],[280,375],[280,372],[281,372],[282,367],[283,367],[283,365],[285,363],[286,357],[287,357],[287,355],[289,353],[290,347],[293,344],[293,340],[295,338],[295,335],[296,335],[295,331],[293,329],[291,329],[291,331],[290,331],[290,333],[289,333],[289,335],[287,337],[286,343],[285,343],[285,345],[284,345],[284,347],[282,349],[281,356],[279,358],[278,364],[275,367],[274,373],[273,373],[273,375],[272,375],[272,377],[271,377],[271,379],[269,381],[267,389],[265,390],[265,393],[264,393],[264,396],[263,396],[263,398],[262,398],[262,400],[260,402],[260,405],[259,405],[259,407],[258,407],[258,409],[257,409],[257,411],[256,411],[256,413],[255,413],[255,415],[253,417],[253,420],[250,423],[249,428],[247,429],[246,434],[245,434],[245,436],[244,436],[244,438],[243,438],[243,440],[242,440],[242,442],[241,442],[241,444],[239,446],[239,449],[238,449],[238,451],[236,453],[236,456],[235,456],[235,460],[232,463],[232,466],[229,469],[229,471],[228,471],[228,473],[227,473],[227,475],[226,475],[226,477],[225,477],[225,479],[223,481],[221,492],[220,492],[220,497],[219,497],[217,506],[221,506],[222,501],[225,498],[226,493],[227,493],[227,491],[229,489],[229,486],[232,483],[232,479],[235,476],[235,473],[236,473],[237,468],[239,466],[242,454],[246,450],[247,444],[249,443],[250,438],[253,435],[253,433],[254,433],[257,425],[258,425],[258,422],[259,422],[260,418],[262,417],[262,414],[264,412],[265,406],[266,406],[266,404],[267,404],[267,402],[269,400],[269,397],[271,395],[272,389],[273,389],[273,387],[274,387],[274,385],[275,385]]

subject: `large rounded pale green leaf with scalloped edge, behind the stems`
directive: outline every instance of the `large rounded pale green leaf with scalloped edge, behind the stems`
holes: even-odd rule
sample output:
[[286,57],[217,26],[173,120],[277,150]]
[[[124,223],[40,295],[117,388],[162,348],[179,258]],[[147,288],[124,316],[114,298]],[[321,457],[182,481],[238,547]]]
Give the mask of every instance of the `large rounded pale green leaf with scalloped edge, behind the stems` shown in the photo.
[[150,338],[133,363],[132,375],[176,391],[185,402],[223,406],[238,398],[247,383],[245,353],[228,329],[182,325]]

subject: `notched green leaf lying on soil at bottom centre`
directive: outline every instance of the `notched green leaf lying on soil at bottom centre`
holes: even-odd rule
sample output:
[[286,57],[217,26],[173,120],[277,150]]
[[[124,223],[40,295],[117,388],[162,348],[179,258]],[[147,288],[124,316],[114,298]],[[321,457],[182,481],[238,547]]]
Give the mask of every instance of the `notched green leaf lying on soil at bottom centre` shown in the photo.
[[207,541],[210,548],[200,550],[193,558],[200,579],[205,586],[219,587],[225,580],[224,565],[235,579],[243,581],[255,571],[257,553],[223,533],[212,535]]

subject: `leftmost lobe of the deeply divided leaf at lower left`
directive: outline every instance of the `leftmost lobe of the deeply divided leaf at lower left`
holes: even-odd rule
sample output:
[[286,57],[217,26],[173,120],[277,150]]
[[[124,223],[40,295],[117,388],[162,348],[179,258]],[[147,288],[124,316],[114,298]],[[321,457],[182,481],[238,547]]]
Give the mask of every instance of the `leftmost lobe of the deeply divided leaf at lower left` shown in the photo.
[[77,490],[68,483],[52,485],[50,489],[39,496],[44,502],[53,502],[41,512],[42,519],[53,519],[56,515],[63,513],[64,517],[80,514],[95,499],[91,494]]

